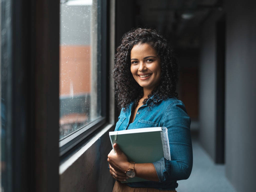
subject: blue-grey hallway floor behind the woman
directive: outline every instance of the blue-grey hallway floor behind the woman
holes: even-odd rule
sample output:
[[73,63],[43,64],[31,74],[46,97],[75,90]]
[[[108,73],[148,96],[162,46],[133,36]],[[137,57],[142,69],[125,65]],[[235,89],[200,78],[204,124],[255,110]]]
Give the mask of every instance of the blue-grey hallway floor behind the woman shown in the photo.
[[177,192],[237,192],[225,176],[225,165],[215,164],[193,137],[193,169],[187,180],[177,183]]

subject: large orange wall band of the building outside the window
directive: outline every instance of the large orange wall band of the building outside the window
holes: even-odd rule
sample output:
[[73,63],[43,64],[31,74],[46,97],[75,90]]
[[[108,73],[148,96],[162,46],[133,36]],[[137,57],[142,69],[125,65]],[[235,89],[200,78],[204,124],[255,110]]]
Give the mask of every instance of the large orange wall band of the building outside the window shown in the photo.
[[91,46],[60,46],[60,95],[91,91]]

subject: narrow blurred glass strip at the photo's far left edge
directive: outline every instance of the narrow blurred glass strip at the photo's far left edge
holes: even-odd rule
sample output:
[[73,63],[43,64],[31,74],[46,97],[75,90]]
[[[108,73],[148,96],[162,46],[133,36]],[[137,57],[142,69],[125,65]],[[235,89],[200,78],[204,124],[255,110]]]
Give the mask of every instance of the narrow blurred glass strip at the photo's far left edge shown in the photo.
[[[0,119],[0,191],[12,190],[12,153],[10,137],[11,121],[7,117],[10,116],[12,103],[10,94],[12,93],[12,65],[11,65],[11,2],[1,1],[0,3],[0,95],[1,95],[1,119]],[[8,115],[7,115],[8,113]]]

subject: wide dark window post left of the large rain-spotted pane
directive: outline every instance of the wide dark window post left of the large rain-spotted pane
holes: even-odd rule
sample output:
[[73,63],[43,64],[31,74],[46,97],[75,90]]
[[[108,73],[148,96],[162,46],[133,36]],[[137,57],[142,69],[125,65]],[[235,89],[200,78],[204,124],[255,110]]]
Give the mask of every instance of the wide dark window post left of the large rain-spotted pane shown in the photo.
[[59,3],[4,0],[1,12],[11,40],[4,190],[59,191]]

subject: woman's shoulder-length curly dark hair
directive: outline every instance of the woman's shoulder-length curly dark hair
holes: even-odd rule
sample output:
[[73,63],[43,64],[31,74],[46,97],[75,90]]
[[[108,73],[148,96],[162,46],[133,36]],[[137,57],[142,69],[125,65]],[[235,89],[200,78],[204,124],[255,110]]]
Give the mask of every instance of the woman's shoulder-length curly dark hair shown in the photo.
[[158,34],[155,29],[135,28],[125,33],[121,45],[115,54],[115,65],[112,76],[115,81],[115,95],[117,105],[127,108],[127,105],[135,100],[135,105],[143,97],[143,88],[135,81],[131,73],[131,50],[134,45],[148,43],[156,51],[161,59],[161,77],[158,86],[143,101],[154,95],[153,106],[160,99],[177,97],[176,82],[178,80],[178,65],[173,49],[168,45],[166,39]]

